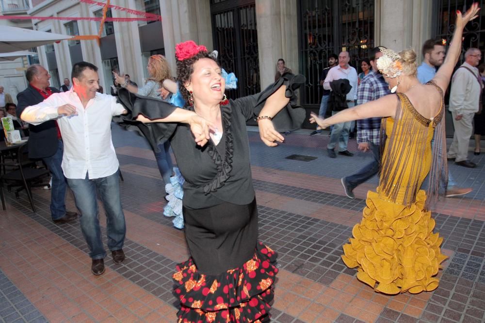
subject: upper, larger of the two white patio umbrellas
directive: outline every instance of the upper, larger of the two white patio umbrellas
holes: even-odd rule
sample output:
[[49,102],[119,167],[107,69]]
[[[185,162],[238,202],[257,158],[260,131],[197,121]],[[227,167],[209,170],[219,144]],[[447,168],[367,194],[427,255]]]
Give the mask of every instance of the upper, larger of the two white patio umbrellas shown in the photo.
[[0,25],[0,53],[31,49],[72,37],[71,35]]

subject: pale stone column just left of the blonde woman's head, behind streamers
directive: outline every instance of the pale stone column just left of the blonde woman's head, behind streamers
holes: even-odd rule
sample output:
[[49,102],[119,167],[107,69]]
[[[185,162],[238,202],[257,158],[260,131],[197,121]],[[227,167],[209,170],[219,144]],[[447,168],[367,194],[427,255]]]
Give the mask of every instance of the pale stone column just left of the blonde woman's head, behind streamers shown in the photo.
[[[125,8],[136,8],[135,0],[119,0],[116,5]],[[128,18],[128,13],[121,10],[112,10],[113,17]],[[142,62],[142,48],[140,46],[140,34],[138,32],[138,23],[132,22],[114,22],[114,36],[116,39],[116,51],[118,53],[118,63],[120,73],[130,75],[130,78],[136,83],[143,85],[145,80]]]

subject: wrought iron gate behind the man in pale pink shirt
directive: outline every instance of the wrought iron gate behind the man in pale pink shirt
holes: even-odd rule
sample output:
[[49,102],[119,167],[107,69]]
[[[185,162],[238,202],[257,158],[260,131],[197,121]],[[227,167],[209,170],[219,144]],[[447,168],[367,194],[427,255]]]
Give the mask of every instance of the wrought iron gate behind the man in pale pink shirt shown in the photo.
[[360,60],[374,46],[374,0],[300,0],[300,73],[307,77],[301,91],[305,108],[318,108],[323,88],[320,74],[328,56],[346,50],[350,65],[360,72]]

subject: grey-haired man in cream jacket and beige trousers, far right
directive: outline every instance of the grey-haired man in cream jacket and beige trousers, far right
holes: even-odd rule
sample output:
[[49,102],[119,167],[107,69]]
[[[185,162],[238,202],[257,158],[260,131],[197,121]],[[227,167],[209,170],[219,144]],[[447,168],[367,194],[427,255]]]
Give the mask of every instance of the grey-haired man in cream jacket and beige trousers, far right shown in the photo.
[[482,78],[477,66],[482,59],[478,48],[465,52],[465,62],[456,70],[450,91],[450,111],[455,132],[448,150],[448,159],[455,164],[475,168],[477,165],[468,160],[468,147],[473,132],[473,117],[481,105]]

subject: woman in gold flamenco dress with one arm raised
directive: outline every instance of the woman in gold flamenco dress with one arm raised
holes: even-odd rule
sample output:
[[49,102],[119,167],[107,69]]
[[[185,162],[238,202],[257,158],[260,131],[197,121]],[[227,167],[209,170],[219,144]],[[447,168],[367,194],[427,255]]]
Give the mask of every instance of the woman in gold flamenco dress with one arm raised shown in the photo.
[[[385,118],[380,185],[375,192],[369,191],[362,221],[354,226],[342,255],[348,267],[357,268],[357,279],[376,292],[419,293],[438,286],[435,276],[446,256],[439,247],[442,238],[433,233],[435,220],[429,205],[436,200],[441,169],[447,166],[445,154],[439,153],[446,152],[443,92],[460,55],[463,28],[478,10],[474,3],[465,15],[457,12],[453,41],[432,81],[421,85],[416,78],[413,50],[397,54],[381,47],[383,56],[377,67],[397,95],[345,109],[328,119],[314,114],[310,118],[320,128]],[[430,185],[425,192],[420,186],[428,173]]]

